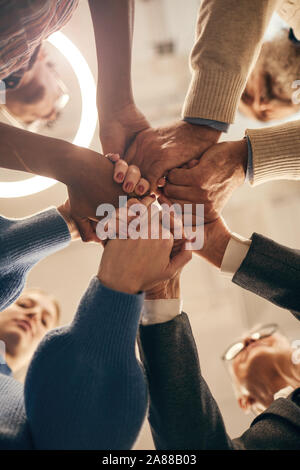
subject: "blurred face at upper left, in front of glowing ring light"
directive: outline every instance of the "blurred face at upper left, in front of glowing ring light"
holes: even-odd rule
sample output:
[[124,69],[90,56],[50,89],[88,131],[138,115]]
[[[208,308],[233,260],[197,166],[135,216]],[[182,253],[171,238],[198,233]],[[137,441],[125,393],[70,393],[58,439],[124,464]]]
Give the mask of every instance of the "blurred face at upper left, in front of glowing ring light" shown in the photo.
[[49,123],[58,117],[60,101],[66,96],[52,64],[42,54],[18,88],[7,90],[6,108],[24,124],[37,120]]

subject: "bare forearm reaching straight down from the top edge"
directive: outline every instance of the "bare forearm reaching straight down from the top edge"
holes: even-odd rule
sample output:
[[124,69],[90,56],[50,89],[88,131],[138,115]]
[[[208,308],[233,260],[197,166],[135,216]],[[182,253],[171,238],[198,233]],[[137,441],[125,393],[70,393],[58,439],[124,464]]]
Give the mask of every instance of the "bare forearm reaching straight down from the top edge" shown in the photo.
[[98,110],[113,113],[133,102],[131,48],[134,0],[89,0],[98,59]]

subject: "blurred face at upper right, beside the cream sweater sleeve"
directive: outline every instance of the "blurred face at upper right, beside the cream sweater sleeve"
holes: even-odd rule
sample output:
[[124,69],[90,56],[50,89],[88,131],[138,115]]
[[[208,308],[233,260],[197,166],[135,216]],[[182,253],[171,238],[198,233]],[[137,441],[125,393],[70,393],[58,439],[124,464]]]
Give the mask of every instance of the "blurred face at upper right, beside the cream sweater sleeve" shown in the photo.
[[[270,44],[262,46],[261,55],[248,78],[242,94],[239,110],[247,117],[262,122],[283,119],[299,110],[293,104],[291,92],[287,95],[276,83],[276,74],[265,63],[265,55],[272,53]],[[277,64],[277,73],[280,74],[281,64]]]

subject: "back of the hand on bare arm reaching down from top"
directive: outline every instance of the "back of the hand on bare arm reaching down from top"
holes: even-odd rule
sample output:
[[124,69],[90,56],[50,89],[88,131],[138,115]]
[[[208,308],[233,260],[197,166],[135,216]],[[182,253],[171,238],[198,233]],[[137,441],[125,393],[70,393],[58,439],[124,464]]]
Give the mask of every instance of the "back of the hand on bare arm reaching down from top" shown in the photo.
[[135,106],[127,106],[111,113],[99,109],[100,142],[103,153],[118,153],[123,157],[135,137],[150,124]]

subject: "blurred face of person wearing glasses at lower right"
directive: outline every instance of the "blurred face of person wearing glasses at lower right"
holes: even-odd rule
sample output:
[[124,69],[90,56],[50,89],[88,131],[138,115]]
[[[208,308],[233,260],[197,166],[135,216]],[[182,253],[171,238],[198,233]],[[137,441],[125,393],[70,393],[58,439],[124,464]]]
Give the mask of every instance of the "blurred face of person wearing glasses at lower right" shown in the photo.
[[247,391],[239,398],[239,405],[245,410],[256,403],[267,407],[274,393],[287,385],[284,376],[293,367],[290,343],[280,333],[260,339],[247,336],[243,341],[244,349],[232,360],[239,388]]

